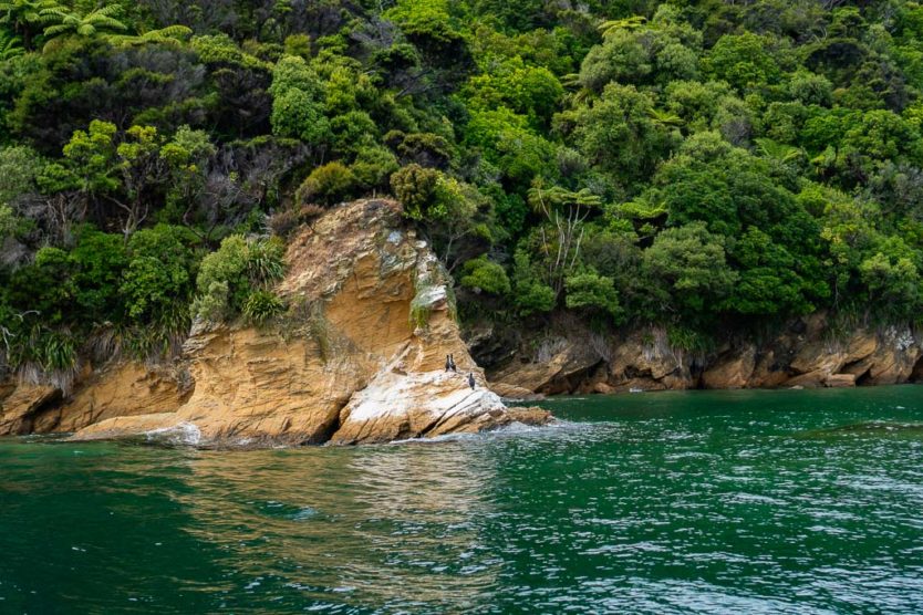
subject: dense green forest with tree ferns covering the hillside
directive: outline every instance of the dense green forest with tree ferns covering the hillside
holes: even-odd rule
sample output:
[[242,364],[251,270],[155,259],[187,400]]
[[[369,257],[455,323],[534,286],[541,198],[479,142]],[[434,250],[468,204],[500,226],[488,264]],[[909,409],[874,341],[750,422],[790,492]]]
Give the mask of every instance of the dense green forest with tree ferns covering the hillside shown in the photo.
[[467,320],[919,320],[921,92],[908,0],[2,1],[0,373],[271,321],[363,196]]

